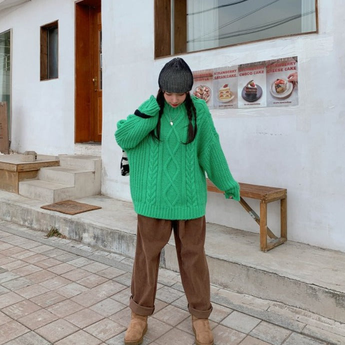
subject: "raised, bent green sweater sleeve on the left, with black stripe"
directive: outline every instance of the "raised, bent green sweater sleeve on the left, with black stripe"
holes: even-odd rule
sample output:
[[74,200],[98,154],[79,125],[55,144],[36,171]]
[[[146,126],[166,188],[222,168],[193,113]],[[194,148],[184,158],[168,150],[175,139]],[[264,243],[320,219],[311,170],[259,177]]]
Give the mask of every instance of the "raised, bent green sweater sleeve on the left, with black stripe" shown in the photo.
[[124,150],[137,146],[157,125],[158,112],[159,105],[151,95],[135,110],[135,114],[119,120],[115,131],[118,145]]

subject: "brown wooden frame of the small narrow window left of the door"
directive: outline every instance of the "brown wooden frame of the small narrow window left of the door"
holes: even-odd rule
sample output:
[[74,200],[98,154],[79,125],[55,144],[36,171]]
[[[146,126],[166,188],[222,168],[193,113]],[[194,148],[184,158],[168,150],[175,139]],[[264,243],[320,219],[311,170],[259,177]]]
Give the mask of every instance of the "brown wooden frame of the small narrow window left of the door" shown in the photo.
[[[52,29],[57,29],[57,47],[56,47],[56,74],[54,76],[50,75],[49,71],[49,32]],[[48,24],[42,25],[39,28],[40,33],[40,81],[51,80],[58,78],[58,20],[52,21]]]

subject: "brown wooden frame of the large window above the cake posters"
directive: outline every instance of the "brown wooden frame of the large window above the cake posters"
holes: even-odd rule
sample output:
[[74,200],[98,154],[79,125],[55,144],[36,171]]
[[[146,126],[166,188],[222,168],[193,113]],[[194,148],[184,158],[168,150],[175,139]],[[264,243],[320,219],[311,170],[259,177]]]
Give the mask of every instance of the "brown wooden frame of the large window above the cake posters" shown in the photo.
[[[286,34],[280,36],[273,36],[269,38],[256,39],[252,41],[245,41],[229,45],[221,45],[212,48],[186,51],[187,50],[187,21],[183,20],[187,13],[187,0],[154,0],[154,58],[171,56],[181,53],[193,53],[199,51],[213,50],[225,48],[229,46],[236,46],[248,43],[255,43],[264,40],[276,39],[281,37],[293,37],[299,35],[306,35],[318,33],[318,8],[317,0],[315,0],[315,31],[300,32],[294,34]],[[175,24],[171,22],[171,17],[175,20]],[[174,32],[171,38],[171,32]],[[172,41],[173,39],[173,41]]]

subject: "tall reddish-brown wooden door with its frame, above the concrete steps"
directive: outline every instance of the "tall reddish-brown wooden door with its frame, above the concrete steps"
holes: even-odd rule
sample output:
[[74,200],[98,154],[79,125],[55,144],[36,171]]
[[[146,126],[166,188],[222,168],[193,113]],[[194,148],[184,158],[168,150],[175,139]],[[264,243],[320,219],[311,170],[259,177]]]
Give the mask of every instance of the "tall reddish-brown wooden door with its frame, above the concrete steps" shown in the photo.
[[101,142],[100,0],[75,4],[75,142]]

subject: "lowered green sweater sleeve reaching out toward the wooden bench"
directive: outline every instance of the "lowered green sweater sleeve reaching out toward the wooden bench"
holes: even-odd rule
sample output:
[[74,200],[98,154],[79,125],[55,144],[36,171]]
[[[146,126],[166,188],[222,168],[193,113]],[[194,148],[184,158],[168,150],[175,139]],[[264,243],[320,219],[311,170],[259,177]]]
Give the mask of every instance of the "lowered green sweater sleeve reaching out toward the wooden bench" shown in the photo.
[[219,135],[215,130],[211,114],[207,109],[199,129],[199,163],[207,173],[208,178],[225,193],[239,200],[239,184],[234,180],[227,164],[224,152],[220,146]]

